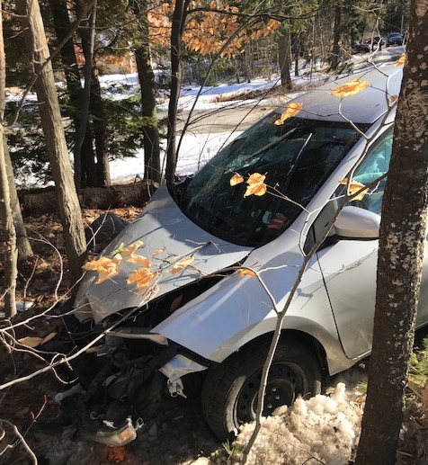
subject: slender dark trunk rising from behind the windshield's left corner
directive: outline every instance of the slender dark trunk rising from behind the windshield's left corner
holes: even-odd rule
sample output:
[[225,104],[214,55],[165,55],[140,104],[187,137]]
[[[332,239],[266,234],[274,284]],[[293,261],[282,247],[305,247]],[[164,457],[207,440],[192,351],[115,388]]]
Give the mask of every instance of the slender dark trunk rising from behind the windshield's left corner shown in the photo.
[[168,104],[168,133],[166,136],[166,183],[174,183],[175,167],[177,165],[176,124],[177,106],[182,85],[182,36],[186,21],[187,6],[190,0],[176,0],[171,29],[171,94]]

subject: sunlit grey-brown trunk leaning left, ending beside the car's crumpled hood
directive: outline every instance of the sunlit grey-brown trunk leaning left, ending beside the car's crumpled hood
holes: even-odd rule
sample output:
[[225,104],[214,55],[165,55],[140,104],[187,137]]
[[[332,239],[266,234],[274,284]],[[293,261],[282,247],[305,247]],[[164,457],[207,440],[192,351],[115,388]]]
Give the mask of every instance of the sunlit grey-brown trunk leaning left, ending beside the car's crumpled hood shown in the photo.
[[19,0],[17,4],[22,15],[21,21],[33,71],[39,76],[34,87],[39,101],[46,149],[57,189],[59,216],[64,229],[71,281],[74,283],[81,276],[81,266],[85,260],[85,232],[68,158],[46,33],[39,3],[36,0]]

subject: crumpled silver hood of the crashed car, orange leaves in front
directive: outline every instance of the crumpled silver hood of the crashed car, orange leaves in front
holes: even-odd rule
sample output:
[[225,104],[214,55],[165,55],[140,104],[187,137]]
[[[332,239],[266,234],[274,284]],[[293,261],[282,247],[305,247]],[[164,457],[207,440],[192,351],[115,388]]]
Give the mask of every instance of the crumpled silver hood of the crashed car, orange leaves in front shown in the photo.
[[[144,305],[148,300],[241,262],[253,250],[214,237],[192,223],[178,208],[166,186],[160,187],[142,216],[123,229],[103,256],[111,257],[120,245],[142,241],[135,255],[146,257],[156,278],[145,289],[128,284],[129,274],[140,264],[120,262],[120,272],[101,283],[98,272],[86,272],[76,296],[76,317],[94,318],[95,323],[120,311]],[[192,263],[174,273],[174,264],[193,257]]]

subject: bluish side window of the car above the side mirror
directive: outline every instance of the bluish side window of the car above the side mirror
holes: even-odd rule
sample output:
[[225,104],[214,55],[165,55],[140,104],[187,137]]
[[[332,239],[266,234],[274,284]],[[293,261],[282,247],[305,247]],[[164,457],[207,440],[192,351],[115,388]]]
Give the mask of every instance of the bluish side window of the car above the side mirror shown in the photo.
[[[368,155],[353,175],[354,181],[367,185],[388,173],[392,152],[392,136],[393,131],[388,130],[388,132],[370,148]],[[378,183],[370,187],[370,192],[365,195],[361,201],[354,201],[352,205],[380,214],[386,183],[387,177],[382,178]]]

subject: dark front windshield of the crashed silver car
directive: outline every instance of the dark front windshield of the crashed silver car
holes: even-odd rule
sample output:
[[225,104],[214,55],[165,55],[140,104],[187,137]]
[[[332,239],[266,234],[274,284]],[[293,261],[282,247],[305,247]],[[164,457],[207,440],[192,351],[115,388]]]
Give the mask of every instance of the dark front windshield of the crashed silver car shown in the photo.
[[[175,187],[183,213],[211,234],[262,246],[290,226],[343,156],[360,139],[346,122],[290,118],[273,112],[245,131],[191,180]],[[245,179],[265,174],[268,192],[245,197]]]

